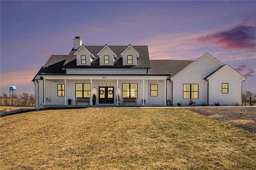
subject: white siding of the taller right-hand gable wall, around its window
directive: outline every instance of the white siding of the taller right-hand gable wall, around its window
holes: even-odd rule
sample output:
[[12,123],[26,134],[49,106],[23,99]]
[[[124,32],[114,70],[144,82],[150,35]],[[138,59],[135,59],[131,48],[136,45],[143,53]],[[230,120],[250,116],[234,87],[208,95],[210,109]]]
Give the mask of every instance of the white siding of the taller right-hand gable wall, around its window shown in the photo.
[[204,56],[193,65],[188,66],[178,73],[173,81],[173,104],[182,102],[182,106],[188,106],[190,99],[183,99],[183,84],[198,84],[198,99],[191,99],[198,106],[205,102],[207,104],[208,84],[204,80],[206,76],[221,66],[212,57]]

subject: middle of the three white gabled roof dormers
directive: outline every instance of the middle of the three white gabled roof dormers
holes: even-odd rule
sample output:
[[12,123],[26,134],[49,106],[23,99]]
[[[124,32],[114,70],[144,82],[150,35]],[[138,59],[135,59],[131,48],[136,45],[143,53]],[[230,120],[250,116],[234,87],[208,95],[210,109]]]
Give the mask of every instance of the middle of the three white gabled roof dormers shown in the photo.
[[104,45],[97,55],[100,59],[100,66],[114,66],[116,53],[108,45]]

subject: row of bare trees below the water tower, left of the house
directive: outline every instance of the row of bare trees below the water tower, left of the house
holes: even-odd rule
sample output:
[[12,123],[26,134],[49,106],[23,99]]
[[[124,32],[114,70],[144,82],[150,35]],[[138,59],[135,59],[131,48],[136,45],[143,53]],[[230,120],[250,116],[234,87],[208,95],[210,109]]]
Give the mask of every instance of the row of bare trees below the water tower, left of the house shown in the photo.
[[34,106],[35,105],[35,95],[34,94],[12,94],[8,96],[8,94],[1,94],[1,102],[2,106]]

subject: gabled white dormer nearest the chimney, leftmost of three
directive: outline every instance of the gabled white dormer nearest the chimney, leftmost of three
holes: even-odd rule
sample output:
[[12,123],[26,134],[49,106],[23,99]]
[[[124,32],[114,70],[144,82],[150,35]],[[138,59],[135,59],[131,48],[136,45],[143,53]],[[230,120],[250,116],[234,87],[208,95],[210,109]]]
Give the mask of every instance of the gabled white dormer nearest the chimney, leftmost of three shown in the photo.
[[74,52],[74,55],[76,55],[77,66],[90,66],[92,64],[92,60],[95,59],[92,52],[90,52],[90,50],[88,50],[84,45],[81,45]]

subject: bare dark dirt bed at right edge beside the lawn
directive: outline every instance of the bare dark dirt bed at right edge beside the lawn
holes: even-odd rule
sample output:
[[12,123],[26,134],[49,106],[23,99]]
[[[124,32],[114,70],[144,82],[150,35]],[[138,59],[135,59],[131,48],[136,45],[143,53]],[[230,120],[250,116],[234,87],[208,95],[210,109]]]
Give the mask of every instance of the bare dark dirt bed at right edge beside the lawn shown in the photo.
[[190,107],[188,109],[256,133],[256,107]]

